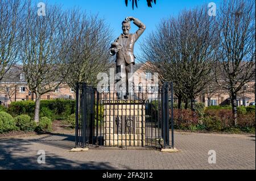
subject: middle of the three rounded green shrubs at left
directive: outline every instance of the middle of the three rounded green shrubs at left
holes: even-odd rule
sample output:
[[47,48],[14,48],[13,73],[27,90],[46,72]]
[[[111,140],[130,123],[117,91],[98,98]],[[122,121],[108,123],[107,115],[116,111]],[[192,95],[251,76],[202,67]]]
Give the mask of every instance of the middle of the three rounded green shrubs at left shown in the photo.
[[36,128],[36,123],[34,120],[31,120],[31,117],[28,115],[20,115],[15,117],[16,126],[21,131],[34,131]]

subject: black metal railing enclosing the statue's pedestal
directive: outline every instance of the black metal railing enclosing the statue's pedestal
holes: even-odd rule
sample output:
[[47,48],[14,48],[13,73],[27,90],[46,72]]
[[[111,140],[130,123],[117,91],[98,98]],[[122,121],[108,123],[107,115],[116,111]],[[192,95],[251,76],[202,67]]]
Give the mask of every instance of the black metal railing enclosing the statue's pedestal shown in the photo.
[[174,148],[172,83],[131,86],[126,99],[120,99],[115,87],[111,88],[96,90],[77,83],[76,147]]

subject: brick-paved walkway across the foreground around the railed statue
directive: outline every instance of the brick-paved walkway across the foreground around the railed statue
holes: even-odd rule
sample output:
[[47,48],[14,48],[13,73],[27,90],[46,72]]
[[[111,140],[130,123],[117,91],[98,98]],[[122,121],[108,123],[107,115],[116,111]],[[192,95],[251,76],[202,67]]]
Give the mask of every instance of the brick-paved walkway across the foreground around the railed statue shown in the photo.
[[[0,169],[255,169],[255,135],[175,132],[178,153],[157,150],[90,149],[69,152],[68,134],[0,139]],[[38,164],[38,150],[46,164]],[[208,151],[216,151],[216,164]]]

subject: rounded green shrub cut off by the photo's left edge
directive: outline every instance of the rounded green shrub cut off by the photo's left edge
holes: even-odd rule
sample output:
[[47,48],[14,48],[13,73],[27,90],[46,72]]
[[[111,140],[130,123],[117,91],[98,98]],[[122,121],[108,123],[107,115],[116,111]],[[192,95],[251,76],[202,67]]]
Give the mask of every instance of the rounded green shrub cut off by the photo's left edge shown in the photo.
[[13,117],[7,112],[0,112],[0,133],[16,131],[18,128],[15,126]]

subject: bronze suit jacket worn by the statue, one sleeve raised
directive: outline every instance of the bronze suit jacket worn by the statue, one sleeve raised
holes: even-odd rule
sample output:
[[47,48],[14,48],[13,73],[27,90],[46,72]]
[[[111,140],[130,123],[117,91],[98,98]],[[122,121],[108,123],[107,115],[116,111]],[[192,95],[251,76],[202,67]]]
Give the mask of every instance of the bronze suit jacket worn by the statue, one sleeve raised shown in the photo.
[[[117,52],[117,58],[116,58],[116,65],[125,65],[125,62],[127,64],[134,63],[135,56],[133,54],[133,48],[134,48],[134,43],[138,40],[139,36],[144,32],[146,29],[146,26],[138,19],[134,19],[133,23],[139,27],[139,30],[135,33],[131,33],[128,35],[127,41],[125,42],[125,37],[124,35],[121,34],[115,42],[117,42],[119,45],[122,46],[122,49],[120,49]],[[114,55],[115,52],[112,52],[111,50],[109,51],[111,55]]]

